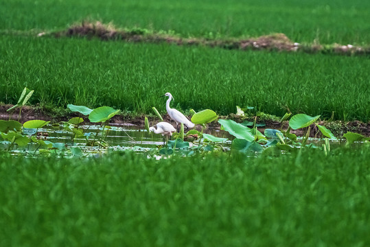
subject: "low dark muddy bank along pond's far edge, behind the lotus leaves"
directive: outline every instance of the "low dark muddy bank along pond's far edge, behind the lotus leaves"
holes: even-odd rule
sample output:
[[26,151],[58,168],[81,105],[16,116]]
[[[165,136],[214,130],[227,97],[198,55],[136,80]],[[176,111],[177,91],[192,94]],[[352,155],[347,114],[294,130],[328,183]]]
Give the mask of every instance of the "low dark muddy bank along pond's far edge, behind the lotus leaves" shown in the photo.
[[[0,105],[0,119],[8,120],[18,120],[19,119],[19,110],[15,110],[12,116],[6,111],[12,105]],[[87,116],[82,116],[79,113],[73,113],[70,111],[65,111],[63,113],[49,113],[47,110],[38,107],[32,106],[24,106],[22,108],[21,119],[19,121],[24,123],[25,121],[34,120],[34,119],[41,119],[45,121],[51,121],[51,123],[57,123],[59,121],[68,121],[71,117],[82,117],[86,123],[89,123],[89,118]],[[132,117],[130,115],[116,115],[110,120],[110,124],[115,124],[117,126],[135,126],[137,128],[144,128],[144,117],[145,116],[138,116]],[[254,121],[254,118],[245,118],[240,117],[235,114],[231,114],[228,116],[220,116],[220,119],[233,119],[238,123],[242,123],[245,120]],[[148,116],[150,126],[156,124],[159,119],[158,117]],[[169,115],[164,115],[163,120],[170,122],[171,124],[175,125],[174,121],[170,120]],[[268,119],[258,119],[257,124],[266,124],[266,126],[259,127],[258,130],[263,132],[266,128],[273,128],[276,130],[286,130],[288,128],[288,121],[284,121],[280,123],[279,121],[273,121]],[[363,123],[361,121],[319,121],[318,124],[326,126],[329,130],[336,137],[341,137],[348,131],[357,132],[359,134],[363,134],[365,137],[370,137],[370,122]],[[196,129],[200,130],[201,126],[197,125]],[[312,124],[310,126],[310,137],[321,137],[321,133],[319,129]],[[220,130],[220,124],[217,121],[212,122],[211,124],[207,125],[207,129],[209,130]],[[300,130],[291,130],[291,133],[297,134],[297,136],[302,136],[306,128]]]

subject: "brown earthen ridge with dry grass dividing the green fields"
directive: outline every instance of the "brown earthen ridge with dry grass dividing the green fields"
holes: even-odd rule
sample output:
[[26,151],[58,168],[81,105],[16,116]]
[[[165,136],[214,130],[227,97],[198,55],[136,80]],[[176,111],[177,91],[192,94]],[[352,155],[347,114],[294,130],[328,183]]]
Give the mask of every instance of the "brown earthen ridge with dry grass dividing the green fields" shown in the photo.
[[[253,49],[271,51],[303,51],[305,53],[321,52],[323,54],[341,55],[369,55],[370,47],[354,45],[321,45],[299,44],[290,40],[285,34],[269,34],[256,38],[181,38],[165,32],[154,32],[139,27],[132,29],[117,29],[112,23],[104,24],[100,21],[82,21],[71,25],[67,30],[52,32],[51,36],[100,38],[100,40],[123,40],[129,43],[171,43],[176,45],[203,45],[220,47],[223,49]],[[44,36],[45,33],[38,34]]]

